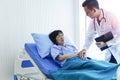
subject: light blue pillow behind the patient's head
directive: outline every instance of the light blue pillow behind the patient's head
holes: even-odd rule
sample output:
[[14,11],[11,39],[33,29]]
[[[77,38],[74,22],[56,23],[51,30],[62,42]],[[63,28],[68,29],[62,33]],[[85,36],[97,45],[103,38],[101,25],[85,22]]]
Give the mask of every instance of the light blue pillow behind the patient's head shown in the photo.
[[41,58],[49,56],[50,47],[53,45],[47,34],[32,33],[33,40],[37,45],[37,50]]

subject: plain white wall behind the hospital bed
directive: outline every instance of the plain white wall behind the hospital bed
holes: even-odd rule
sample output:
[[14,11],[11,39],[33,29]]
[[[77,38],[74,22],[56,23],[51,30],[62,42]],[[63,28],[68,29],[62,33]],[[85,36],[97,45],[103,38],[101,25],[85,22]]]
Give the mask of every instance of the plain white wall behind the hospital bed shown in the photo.
[[[74,38],[75,0],[0,0],[0,79],[13,80],[15,55],[31,33],[62,29]],[[73,16],[74,15],[74,16]]]

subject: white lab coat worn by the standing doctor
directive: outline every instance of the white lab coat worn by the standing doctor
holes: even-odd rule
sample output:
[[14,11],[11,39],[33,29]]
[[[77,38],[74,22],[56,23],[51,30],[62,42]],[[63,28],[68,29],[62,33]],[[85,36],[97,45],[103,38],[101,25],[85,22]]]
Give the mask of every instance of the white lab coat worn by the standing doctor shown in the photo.
[[[103,15],[105,19],[102,19]],[[120,24],[118,19],[112,13],[105,10],[103,10],[103,12],[101,11],[99,19],[102,19],[100,25],[96,18],[95,20],[91,20],[86,34],[84,49],[88,49],[90,47],[96,34],[97,36],[100,36],[111,31],[114,38],[107,42],[107,45],[111,47],[107,49],[105,60],[109,61],[112,53],[117,63],[120,63]]]

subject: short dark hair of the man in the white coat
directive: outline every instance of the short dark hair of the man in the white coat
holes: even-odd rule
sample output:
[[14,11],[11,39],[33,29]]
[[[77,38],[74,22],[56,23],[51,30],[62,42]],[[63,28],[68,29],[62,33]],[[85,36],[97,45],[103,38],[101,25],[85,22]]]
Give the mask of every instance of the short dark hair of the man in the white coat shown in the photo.
[[90,10],[92,10],[93,8],[99,9],[99,3],[97,0],[85,0],[82,6],[83,7],[87,6],[87,8]]

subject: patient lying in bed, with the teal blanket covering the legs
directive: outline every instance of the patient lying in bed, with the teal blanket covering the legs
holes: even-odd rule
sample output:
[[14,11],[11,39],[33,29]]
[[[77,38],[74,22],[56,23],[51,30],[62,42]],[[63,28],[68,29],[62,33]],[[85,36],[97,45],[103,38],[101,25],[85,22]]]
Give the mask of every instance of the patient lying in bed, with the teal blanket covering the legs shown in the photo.
[[61,30],[51,32],[49,38],[54,43],[51,56],[61,66],[50,71],[54,80],[116,80],[119,64],[80,58],[77,48],[64,42]]

